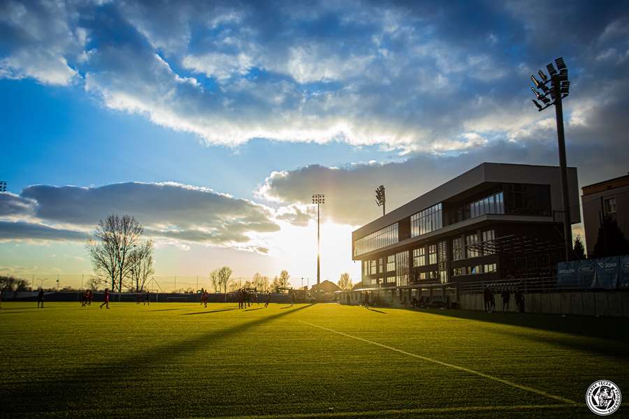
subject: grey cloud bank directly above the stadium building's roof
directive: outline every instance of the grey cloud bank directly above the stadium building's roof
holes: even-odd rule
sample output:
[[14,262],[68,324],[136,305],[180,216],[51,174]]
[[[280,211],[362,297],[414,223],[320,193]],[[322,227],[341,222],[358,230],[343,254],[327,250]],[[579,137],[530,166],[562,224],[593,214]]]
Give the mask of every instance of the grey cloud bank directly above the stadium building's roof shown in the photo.
[[[326,203],[322,207],[324,218],[358,226],[382,214],[382,208],[375,205],[374,192],[380,184],[386,188],[386,208],[390,211],[484,161],[558,165],[554,138],[544,142],[532,141],[528,147],[514,142],[495,141],[491,145],[449,156],[421,154],[402,162],[361,163],[342,168],[312,165],[298,170],[273,172],[259,189],[258,195],[282,203],[305,205],[310,203],[310,191],[319,191],[326,196]],[[594,155],[600,158],[589,157]],[[595,147],[572,147],[570,165],[573,166],[572,161],[575,160],[586,161],[578,168],[581,185],[611,177],[614,170],[621,170],[620,167],[602,164],[602,159],[605,157]],[[615,173],[619,174],[618,171]]]

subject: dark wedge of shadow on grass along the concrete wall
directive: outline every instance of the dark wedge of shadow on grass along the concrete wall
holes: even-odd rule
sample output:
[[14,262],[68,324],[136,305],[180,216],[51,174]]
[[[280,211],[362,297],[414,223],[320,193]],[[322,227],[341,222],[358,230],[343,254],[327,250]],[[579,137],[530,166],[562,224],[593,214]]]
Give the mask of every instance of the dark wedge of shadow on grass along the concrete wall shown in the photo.
[[[406,309],[417,311],[414,309]],[[568,333],[584,337],[609,339],[629,344],[629,334],[619,333],[618,330],[629,329],[629,318],[600,318],[591,316],[565,316],[559,314],[534,313],[487,313],[485,311],[467,310],[422,310],[422,313],[461,318],[465,320],[498,323],[502,325],[521,326],[547,330],[549,332]],[[608,327],[609,323],[614,327]]]

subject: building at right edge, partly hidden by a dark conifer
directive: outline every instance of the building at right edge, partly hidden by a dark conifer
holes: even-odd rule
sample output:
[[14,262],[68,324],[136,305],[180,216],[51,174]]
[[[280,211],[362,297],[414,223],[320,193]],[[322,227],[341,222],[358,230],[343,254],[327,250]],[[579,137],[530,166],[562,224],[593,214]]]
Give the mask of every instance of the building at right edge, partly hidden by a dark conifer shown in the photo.
[[588,254],[591,254],[602,216],[612,216],[629,237],[629,174],[581,188],[583,223]]

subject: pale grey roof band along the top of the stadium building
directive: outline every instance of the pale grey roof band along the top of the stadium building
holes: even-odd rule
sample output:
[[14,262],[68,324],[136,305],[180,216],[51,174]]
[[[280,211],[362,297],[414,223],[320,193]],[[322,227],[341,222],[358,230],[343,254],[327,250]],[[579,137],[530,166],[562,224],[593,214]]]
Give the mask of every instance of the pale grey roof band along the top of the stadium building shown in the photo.
[[[418,173],[418,176],[420,175],[421,173]],[[579,207],[577,168],[569,167],[567,177],[570,203],[572,203],[573,207]],[[415,198],[409,203],[389,212],[389,214],[381,216],[367,223],[365,226],[354,230],[354,232],[352,232],[352,240],[359,239],[381,228],[390,226],[432,205],[447,202],[455,197],[464,198],[467,194],[471,195],[475,192],[475,187],[477,186],[502,183],[549,184],[551,186],[552,207],[561,207],[561,182],[558,166],[486,162],[450,179],[448,182],[419,196],[419,198]],[[573,223],[581,221],[579,212],[572,216]]]

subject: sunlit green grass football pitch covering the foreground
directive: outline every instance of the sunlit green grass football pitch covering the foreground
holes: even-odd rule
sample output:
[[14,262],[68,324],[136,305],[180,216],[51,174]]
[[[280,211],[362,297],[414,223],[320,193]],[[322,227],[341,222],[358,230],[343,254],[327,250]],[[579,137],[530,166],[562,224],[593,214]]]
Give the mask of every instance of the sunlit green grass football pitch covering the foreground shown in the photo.
[[593,381],[629,397],[627,319],[35,305],[0,309],[0,416],[591,418]]

